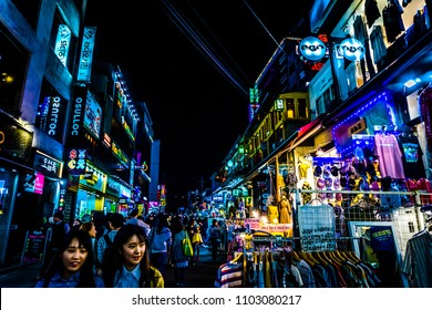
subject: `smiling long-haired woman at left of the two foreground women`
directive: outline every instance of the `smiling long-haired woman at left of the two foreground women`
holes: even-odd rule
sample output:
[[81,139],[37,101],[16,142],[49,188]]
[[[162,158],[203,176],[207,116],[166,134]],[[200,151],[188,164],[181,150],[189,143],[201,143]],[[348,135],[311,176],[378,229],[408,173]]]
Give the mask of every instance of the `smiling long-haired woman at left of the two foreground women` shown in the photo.
[[92,241],[88,231],[72,229],[60,242],[52,264],[37,288],[104,288],[93,272]]

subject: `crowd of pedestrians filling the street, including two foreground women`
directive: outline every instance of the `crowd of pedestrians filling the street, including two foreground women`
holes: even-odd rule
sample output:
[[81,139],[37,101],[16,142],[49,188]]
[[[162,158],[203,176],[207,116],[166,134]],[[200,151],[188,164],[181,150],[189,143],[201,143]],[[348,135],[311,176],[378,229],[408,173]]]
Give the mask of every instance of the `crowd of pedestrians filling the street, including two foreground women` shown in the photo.
[[[85,215],[72,227],[56,211],[50,220],[38,288],[164,288],[166,267],[172,267],[175,286],[185,286],[187,267],[199,261],[200,247],[212,247],[217,220],[152,214],[147,218],[134,208],[120,213]],[[194,255],[187,257],[182,240],[189,238]]]

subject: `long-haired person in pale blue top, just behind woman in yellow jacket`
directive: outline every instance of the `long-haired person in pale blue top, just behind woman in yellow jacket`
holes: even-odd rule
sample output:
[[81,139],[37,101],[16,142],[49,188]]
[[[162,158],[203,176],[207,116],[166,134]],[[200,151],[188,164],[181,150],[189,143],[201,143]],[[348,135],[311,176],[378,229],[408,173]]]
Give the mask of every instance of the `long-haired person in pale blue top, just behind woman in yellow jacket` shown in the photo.
[[156,216],[153,228],[148,234],[151,247],[151,262],[161,273],[165,275],[165,264],[172,244],[172,232],[168,228],[168,221],[163,213]]

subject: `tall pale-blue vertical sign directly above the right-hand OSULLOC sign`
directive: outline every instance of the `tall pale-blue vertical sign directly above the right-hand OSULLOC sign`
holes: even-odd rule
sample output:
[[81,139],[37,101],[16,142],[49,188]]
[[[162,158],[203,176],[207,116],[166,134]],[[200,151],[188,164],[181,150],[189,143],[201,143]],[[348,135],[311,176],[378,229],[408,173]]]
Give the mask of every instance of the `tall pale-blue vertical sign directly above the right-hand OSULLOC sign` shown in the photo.
[[95,27],[84,27],[84,35],[81,45],[80,65],[78,68],[76,76],[76,80],[80,82],[90,82],[95,37]]

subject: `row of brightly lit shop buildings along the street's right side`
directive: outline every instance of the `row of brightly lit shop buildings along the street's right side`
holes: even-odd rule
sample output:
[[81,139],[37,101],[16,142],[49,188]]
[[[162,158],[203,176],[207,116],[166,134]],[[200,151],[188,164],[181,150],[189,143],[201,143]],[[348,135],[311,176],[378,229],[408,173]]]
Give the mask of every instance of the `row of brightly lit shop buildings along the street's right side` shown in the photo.
[[[235,218],[265,215],[260,228],[292,238],[298,250],[353,250],[376,266],[384,287],[430,287],[429,271],[426,281],[409,281],[424,270],[413,272],[421,267],[403,259],[431,219],[431,12],[423,0],[315,1],[310,34],[296,46],[297,58],[319,69],[301,93],[306,103],[284,101],[292,90],[282,89],[253,102],[253,130],[215,175],[215,195],[228,197],[222,207],[246,208]],[[269,65],[278,72],[277,62]],[[290,115],[305,123],[290,123]],[[289,123],[288,134],[271,140]],[[282,219],[286,198],[291,213]],[[388,260],[374,248],[382,234],[393,245]]]

